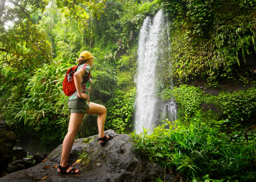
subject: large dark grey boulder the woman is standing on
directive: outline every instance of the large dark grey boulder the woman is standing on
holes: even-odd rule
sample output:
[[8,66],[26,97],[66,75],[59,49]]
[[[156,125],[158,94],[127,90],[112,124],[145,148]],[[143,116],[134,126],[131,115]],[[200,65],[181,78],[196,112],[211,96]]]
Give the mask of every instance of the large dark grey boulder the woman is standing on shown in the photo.
[[[25,170],[11,173],[1,180],[18,179],[17,181],[35,181],[50,176],[45,181],[156,181],[154,178],[164,179],[164,168],[157,163],[151,163],[140,154],[133,153],[131,138],[127,134],[117,134],[107,130],[105,134],[115,137],[105,145],[100,146],[97,135],[75,140],[69,157],[69,164],[76,162],[78,153],[87,154],[80,166],[80,175],[58,175],[55,165],[59,165],[62,145],[54,149],[46,161]],[[84,163],[84,164],[83,164]],[[82,165],[83,164],[83,165]],[[49,168],[43,169],[44,166]],[[30,176],[28,176],[28,173]],[[35,177],[33,177],[35,176]],[[171,173],[166,171],[166,181],[174,181]],[[15,181],[15,180],[14,180]]]

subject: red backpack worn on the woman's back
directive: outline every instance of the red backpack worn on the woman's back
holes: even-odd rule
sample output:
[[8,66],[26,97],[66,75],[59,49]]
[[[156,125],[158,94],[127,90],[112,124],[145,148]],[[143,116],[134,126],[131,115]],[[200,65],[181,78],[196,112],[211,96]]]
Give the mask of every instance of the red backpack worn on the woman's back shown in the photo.
[[[76,92],[76,85],[74,82],[74,73],[76,72],[77,67],[80,65],[81,64],[78,64],[77,66],[72,66],[71,68],[69,68],[65,75],[64,81],[62,82],[63,92],[67,96],[70,96],[74,94],[74,92]],[[88,65],[88,64],[85,64],[85,65]],[[90,77],[92,77],[91,71],[88,73],[85,80],[81,84],[89,80]]]

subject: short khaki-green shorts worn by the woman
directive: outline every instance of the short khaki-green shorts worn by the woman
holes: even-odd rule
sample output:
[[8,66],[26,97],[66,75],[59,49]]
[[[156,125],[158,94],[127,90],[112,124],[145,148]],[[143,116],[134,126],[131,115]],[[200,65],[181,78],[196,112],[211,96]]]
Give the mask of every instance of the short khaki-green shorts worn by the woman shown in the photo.
[[68,101],[68,109],[71,113],[86,113],[88,106],[85,99],[72,99]]

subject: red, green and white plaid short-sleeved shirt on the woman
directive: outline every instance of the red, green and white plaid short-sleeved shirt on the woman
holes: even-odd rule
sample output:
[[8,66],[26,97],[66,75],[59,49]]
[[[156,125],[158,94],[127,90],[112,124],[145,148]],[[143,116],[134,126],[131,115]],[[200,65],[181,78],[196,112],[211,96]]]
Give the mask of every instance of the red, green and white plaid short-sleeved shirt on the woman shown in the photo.
[[[82,64],[80,66],[77,67],[77,70],[80,70],[80,69],[83,69],[87,72],[87,74],[83,75],[81,77],[81,83],[86,79],[86,76],[88,75],[88,73],[90,72],[91,70],[91,66],[89,66],[88,64]],[[89,107],[89,104],[90,104],[90,92],[91,92],[91,89],[92,89],[92,78],[90,77],[89,80],[87,80],[85,83],[81,84],[81,93],[84,93],[84,94],[87,94],[88,95],[88,99],[85,101],[88,108]],[[71,96],[69,96],[69,99],[68,100],[72,100],[72,99],[77,99],[79,98],[78,95],[77,95],[77,91],[72,94]]]

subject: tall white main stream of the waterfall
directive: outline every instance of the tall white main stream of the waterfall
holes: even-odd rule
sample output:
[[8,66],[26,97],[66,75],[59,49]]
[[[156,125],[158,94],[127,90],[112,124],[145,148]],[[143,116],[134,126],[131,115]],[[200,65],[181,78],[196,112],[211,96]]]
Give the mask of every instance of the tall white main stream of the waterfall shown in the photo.
[[155,67],[159,59],[158,45],[164,31],[164,12],[159,10],[154,19],[146,17],[140,29],[138,47],[137,99],[135,102],[135,132],[156,124]]

